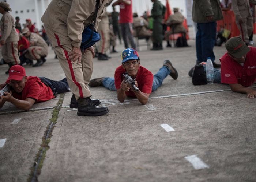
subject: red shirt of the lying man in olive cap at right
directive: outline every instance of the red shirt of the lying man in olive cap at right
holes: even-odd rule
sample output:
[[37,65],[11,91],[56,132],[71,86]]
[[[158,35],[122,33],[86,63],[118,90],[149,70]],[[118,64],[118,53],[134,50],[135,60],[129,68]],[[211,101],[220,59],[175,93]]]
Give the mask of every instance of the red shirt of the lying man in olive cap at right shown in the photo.
[[221,61],[221,83],[241,84],[244,87],[251,86],[256,78],[256,48],[246,55],[244,66],[237,63],[227,53],[222,56]]

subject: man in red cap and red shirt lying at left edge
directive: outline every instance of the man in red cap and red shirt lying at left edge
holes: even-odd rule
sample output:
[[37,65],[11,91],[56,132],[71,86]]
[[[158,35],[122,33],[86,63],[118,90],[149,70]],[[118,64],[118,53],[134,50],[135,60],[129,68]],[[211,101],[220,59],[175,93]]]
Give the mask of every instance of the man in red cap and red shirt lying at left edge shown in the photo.
[[50,80],[45,77],[26,76],[25,69],[20,65],[10,68],[9,77],[5,83],[0,84],[0,90],[9,84],[10,92],[0,96],[0,108],[5,102],[28,111],[34,103],[44,102],[55,98],[55,94],[70,91],[67,79],[60,81]]

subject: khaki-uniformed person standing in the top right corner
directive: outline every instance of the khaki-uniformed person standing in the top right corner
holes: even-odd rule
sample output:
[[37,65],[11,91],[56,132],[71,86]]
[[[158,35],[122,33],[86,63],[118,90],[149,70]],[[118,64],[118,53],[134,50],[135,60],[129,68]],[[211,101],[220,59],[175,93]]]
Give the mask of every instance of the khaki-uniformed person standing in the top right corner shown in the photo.
[[232,10],[236,16],[236,24],[246,45],[249,44],[249,36],[253,32],[250,3],[255,5],[256,0],[232,0]]

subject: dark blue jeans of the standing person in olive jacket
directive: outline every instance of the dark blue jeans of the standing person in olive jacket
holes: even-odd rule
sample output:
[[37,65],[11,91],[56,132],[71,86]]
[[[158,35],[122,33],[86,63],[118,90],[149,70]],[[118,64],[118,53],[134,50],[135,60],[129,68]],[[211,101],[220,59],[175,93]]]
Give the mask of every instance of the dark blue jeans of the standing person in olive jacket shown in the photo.
[[196,33],[196,64],[206,62],[211,57],[212,62],[215,60],[213,47],[216,40],[216,22],[197,23]]

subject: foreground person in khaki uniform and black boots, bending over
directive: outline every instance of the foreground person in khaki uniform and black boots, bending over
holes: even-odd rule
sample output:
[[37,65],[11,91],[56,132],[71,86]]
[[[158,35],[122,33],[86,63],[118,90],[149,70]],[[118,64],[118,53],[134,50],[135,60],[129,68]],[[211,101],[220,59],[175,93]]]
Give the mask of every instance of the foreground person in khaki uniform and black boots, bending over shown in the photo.
[[108,0],[54,0],[41,18],[73,93],[70,107],[77,107],[79,116],[100,116],[109,112],[107,107],[96,107],[100,104],[99,100],[90,99],[88,83],[93,72],[93,46],[84,50],[83,54],[80,48],[84,27],[92,24],[96,16],[93,26],[97,30],[107,5]]

